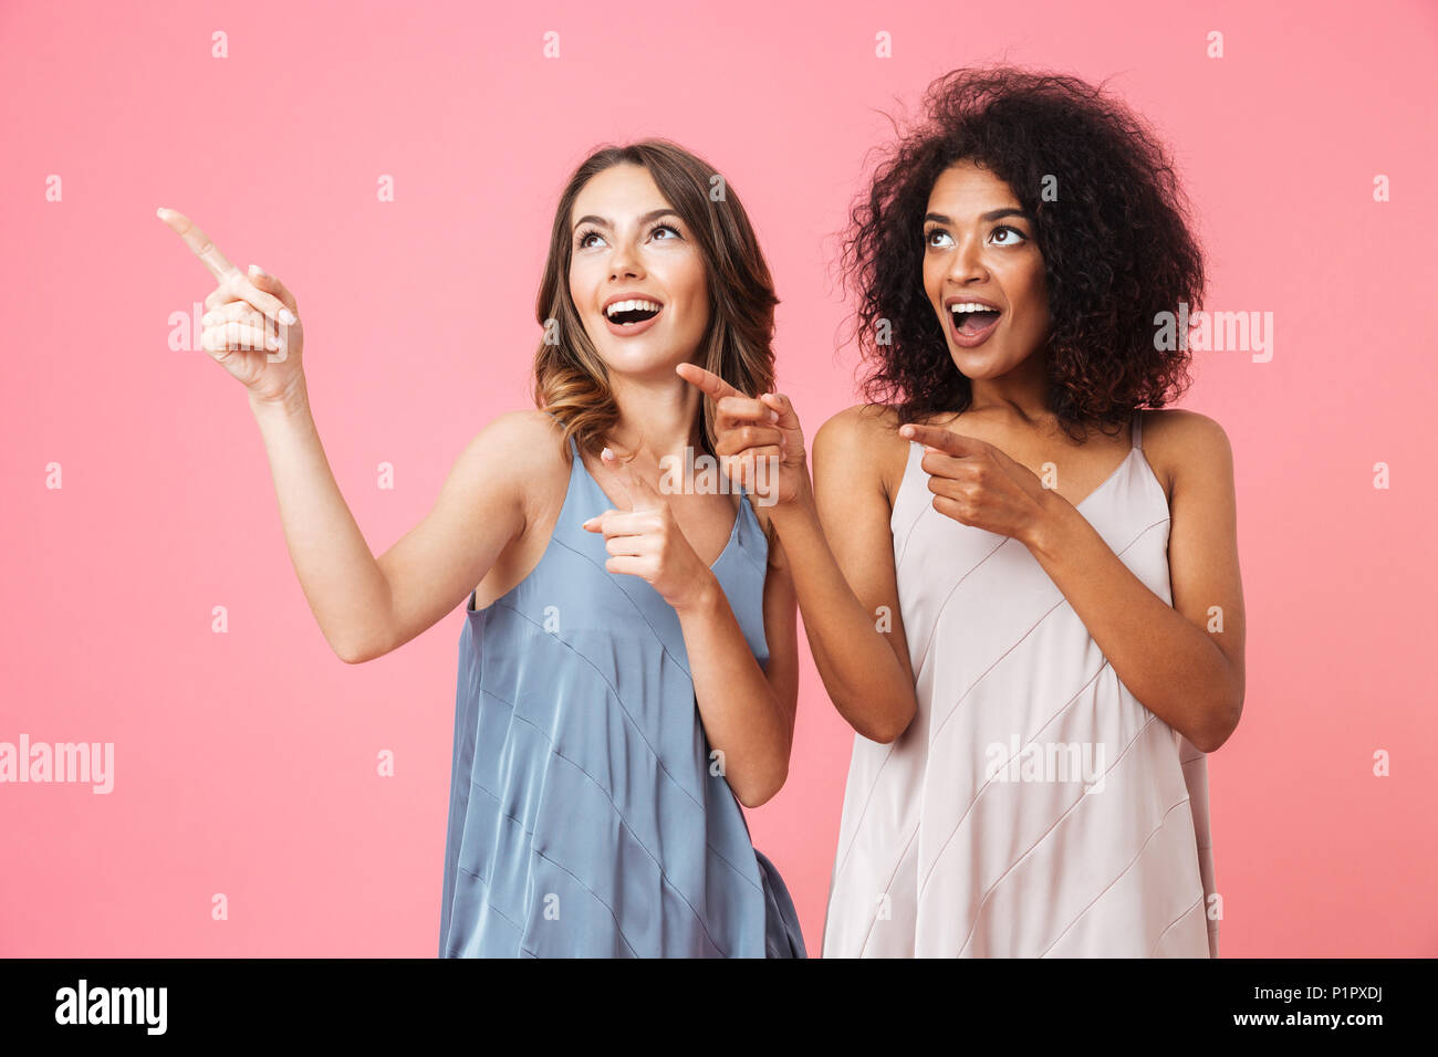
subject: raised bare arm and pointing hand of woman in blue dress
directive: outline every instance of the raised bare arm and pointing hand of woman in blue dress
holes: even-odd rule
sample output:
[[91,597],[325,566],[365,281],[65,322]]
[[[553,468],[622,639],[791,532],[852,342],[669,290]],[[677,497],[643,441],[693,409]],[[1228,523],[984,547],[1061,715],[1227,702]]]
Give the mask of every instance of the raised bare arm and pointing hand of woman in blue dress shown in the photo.
[[562,462],[551,420],[516,411],[490,423],[424,521],[375,561],[309,410],[295,295],[256,265],[242,272],[183,213],[157,213],[219,283],[204,299],[200,344],[249,393],[285,544],[319,630],[349,663],[403,646],[453,610],[523,531],[523,483],[541,479],[546,459]]

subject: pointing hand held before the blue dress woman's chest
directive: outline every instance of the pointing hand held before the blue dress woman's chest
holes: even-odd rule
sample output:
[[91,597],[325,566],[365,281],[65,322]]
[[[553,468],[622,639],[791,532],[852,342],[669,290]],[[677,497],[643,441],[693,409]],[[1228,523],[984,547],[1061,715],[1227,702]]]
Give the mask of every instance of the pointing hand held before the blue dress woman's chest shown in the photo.
[[604,568],[641,577],[676,611],[695,605],[718,581],[689,545],[669,500],[633,463],[620,465],[610,449],[604,449],[603,459],[624,492],[618,502],[628,505],[627,511],[611,508],[584,522],[587,531],[604,534],[610,552]]

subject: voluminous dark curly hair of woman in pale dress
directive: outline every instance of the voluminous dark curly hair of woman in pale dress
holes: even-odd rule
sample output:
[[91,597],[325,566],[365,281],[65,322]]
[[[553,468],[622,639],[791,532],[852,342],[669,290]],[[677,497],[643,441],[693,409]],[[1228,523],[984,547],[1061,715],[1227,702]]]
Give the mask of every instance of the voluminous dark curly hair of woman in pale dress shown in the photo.
[[[926,119],[880,161],[843,242],[866,400],[893,407],[900,423],[971,406],[969,380],[923,289],[929,193],[958,161],[989,170],[1034,217],[1060,426],[1081,441],[1089,424],[1122,429],[1139,407],[1176,398],[1191,355],[1186,342],[1155,348],[1155,315],[1202,305],[1204,257],[1150,128],[1102,86],[1008,65],[953,70],[923,102]],[[1055,201],[1044,200],[1045,180]],[[880,321],[887,344],[876,341]]]

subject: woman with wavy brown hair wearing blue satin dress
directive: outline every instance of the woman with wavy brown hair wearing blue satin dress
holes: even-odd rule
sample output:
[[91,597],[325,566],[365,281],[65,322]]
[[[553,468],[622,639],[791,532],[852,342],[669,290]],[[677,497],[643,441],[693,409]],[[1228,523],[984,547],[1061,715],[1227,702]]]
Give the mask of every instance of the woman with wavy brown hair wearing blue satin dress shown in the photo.
[[733,188],[659,139],[578,167],[535,305],[538,410],[486,426],[378,559],[309,417],[293,296],[161,217],[221,282],[204,347],[249,388],[334,650],[384,656],[470,603],[439,953],[802,958],[741,808],[788,774],[788,567],[754,495],[670,486],[676,460],[705,480],[695,452],[715,454],[677,365],[772,387],[777,298]]

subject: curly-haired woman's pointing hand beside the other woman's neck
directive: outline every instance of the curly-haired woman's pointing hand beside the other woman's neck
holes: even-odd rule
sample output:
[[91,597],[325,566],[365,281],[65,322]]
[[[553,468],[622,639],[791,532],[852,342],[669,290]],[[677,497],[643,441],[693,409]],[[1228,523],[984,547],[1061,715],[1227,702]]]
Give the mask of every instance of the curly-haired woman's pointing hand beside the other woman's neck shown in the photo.
[[764,506],[789,503],[808,490],[804,430],[788,397],[781,393],[748,397],[696,364],[679,364],[674,370],[713,398],[715,450],[731,480],[742,483]]

